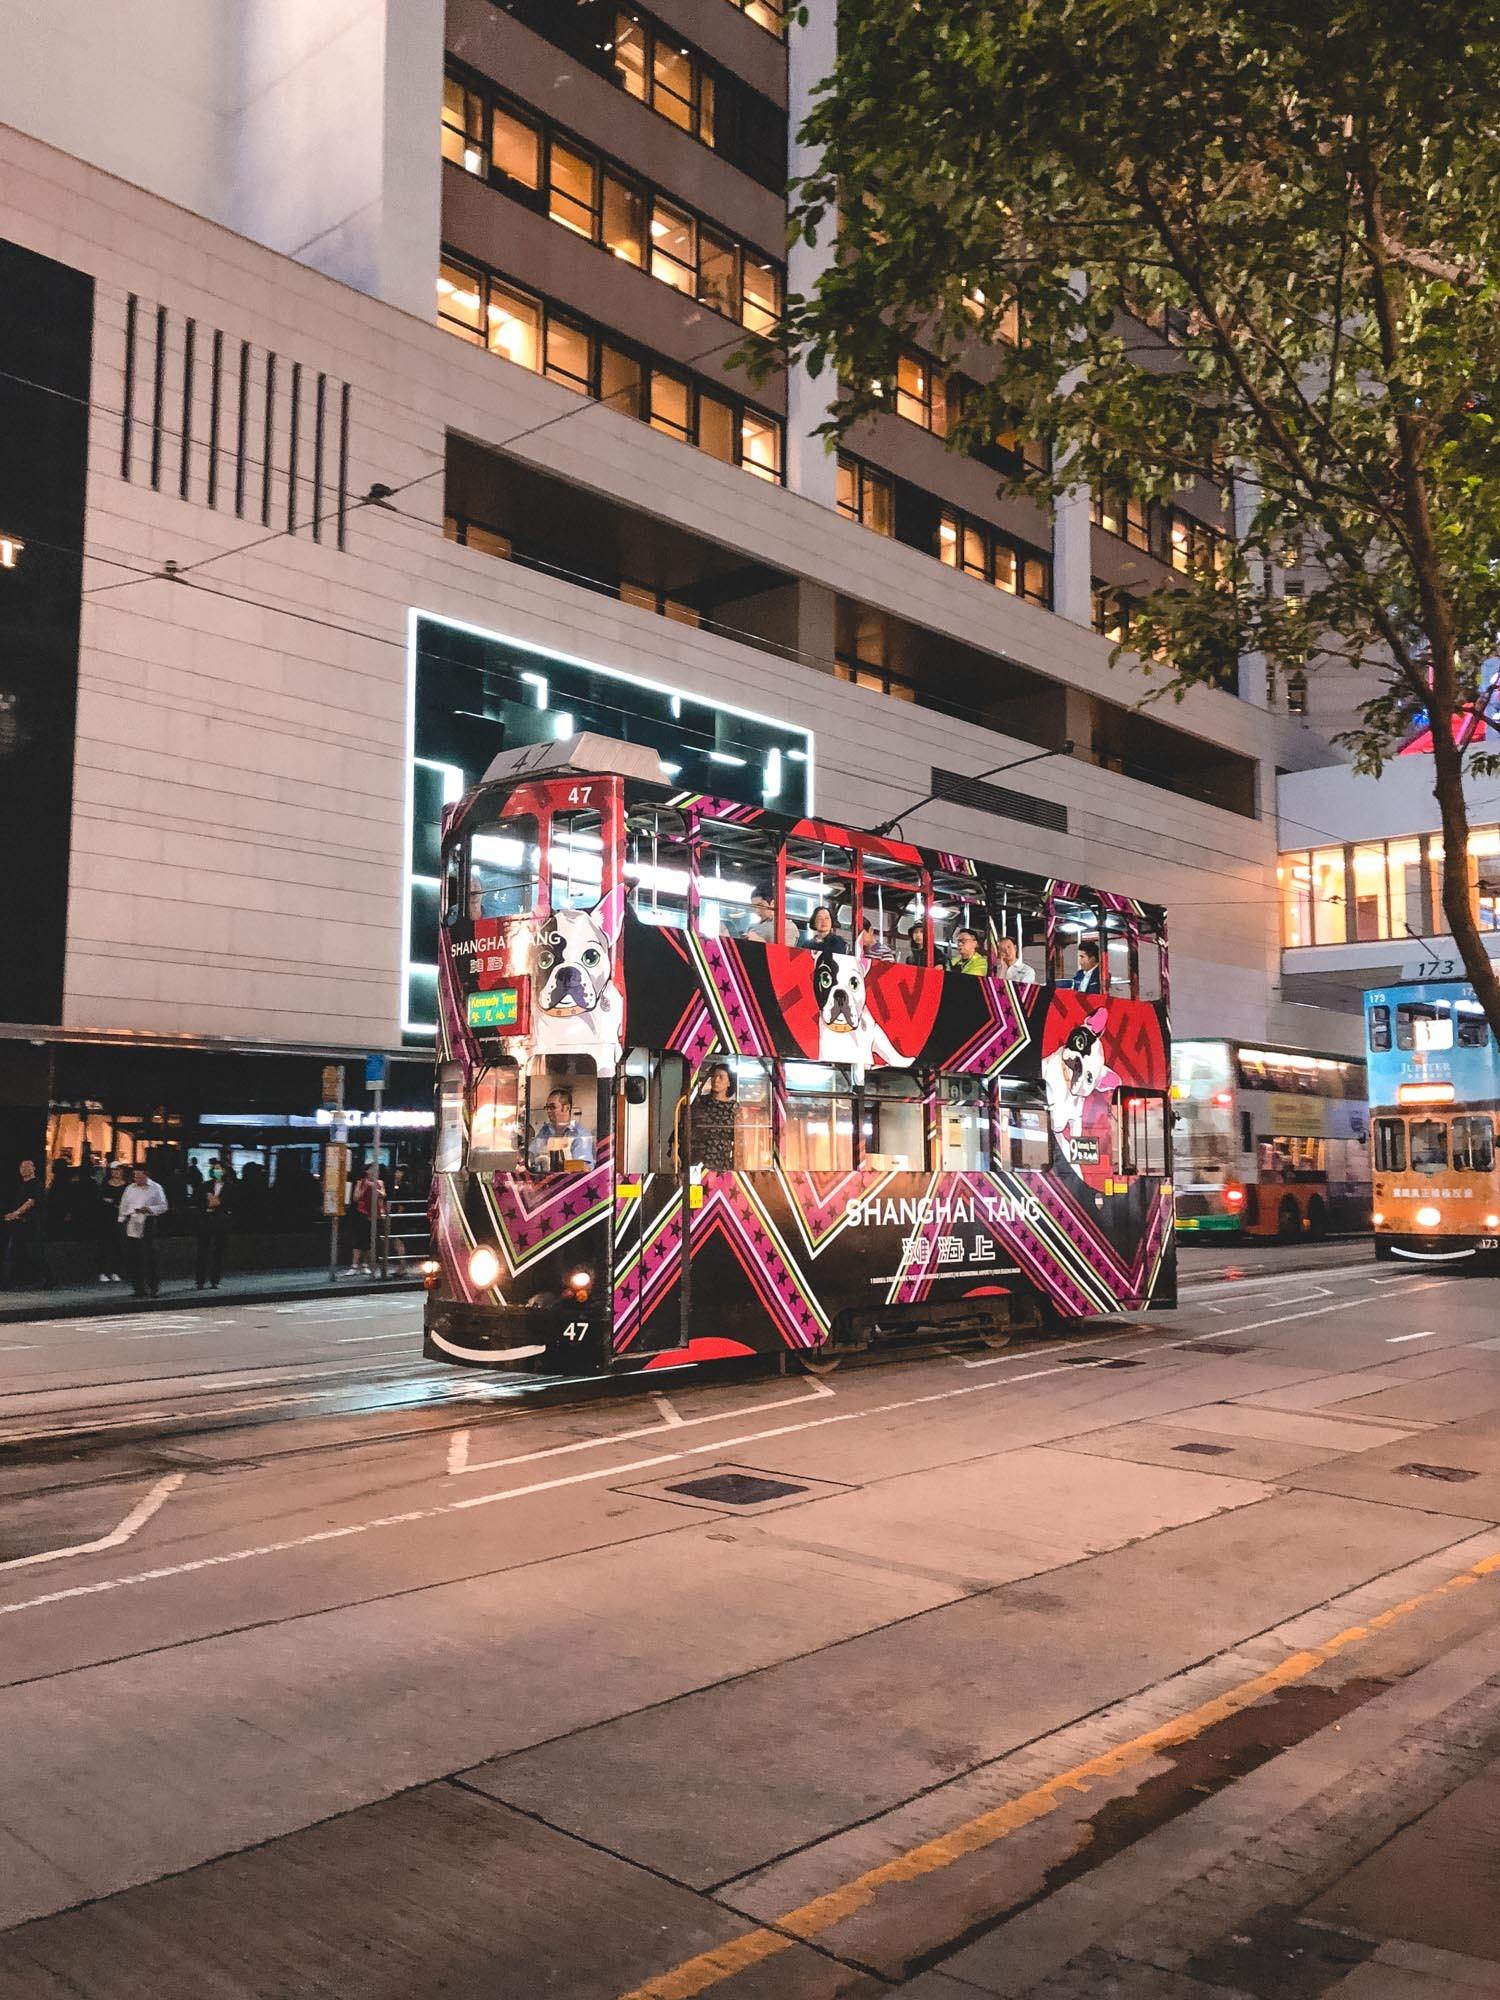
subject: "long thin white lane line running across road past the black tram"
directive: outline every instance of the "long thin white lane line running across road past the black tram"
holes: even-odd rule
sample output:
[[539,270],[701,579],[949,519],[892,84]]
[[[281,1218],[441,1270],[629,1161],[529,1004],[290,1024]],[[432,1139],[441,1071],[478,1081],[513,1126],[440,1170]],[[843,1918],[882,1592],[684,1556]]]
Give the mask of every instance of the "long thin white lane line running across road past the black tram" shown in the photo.
[[[1448,1280],[1436,1278],[1430,1284],[1444,1284]],[[1422,1286],[1412,1286],[1412,1290],[1422,1290]],[[1294,1312],[1288,1318],[1308,1320],[1320,1318],[1324,1312],[1342,1312],[1348,1306],[1368,1304],[1368,1300],[1342,1300],[1334,1306],[1318,1306],[1310,1312]],[[1254,1332],[1258,1326],[1280,1326],[1280,1320],[1260,1320],[1254,1326],[1236,1326],[1232,1332]],[[1216,1334],[1196,1334],[1194,1340],[1212,1340]],[[1162,1342],[1162,1346],[1192,1346],[1192,1340]],[[1160,1352],[1160,1350],[1150,1350]],[[804,1430],[824,1430],[828,1424],[856,1424],[866,1418],[876,1416],[896,1416],[904,1410],[918,1410],[928,1404],[954,1402],[958,1396],[982,1396],[986,1390],[1014,1388],[1016,1382],[1034,1382],[1042,1376],[1062,1374],[1062,1368],[1034,1368],[1024,1376],[1006,1376],[994,1382],[960,1382],[956,1388],[930,1390],[924,1396],[908,1396],[900,1402],[874,1404],[868,1410],[830,1410],[828,1416],[808,1416],[796,1424],[774,1424],[768,1430],[750,1430],[738,1438],[710,1438],[706,1444],[684,1444],[676,1452],[656,1452],[652,1458],[636,1458],[622,1466],[590,1466],[586,1472],[566,1472],[554,1480],[532,1480],[528,1486],[502,1486],[500,1492],[472,1494],[468,1500],[444,1500],[436,1506],[410,1508],[406,1514],[382,1514],[378,1520],[354,1520],[342,1528],[318,1528],[312,1534],[290,1536],[284,1542],[262,1542],[256,1548],[230,1548],[222,1556],[198,1556],[192,1562],[164,1564],[156,1570],[132,1570],[126,1576],[106,1576],[92,1584],[74,1584],[68,1590],[50,1590],[38,1598],[22,1598],[16,1604],[0,1604],[0,1618],[8,1618],[12,1612],[32,1612],[42,1610],[50,1604],[64,1604],[74,1598],[96,1598],[106,1596],[114,1590],[134,1590],[140,1584],[164,1582],[176,1576],[192,1576],[198,1570],[218,1570],[232,1562],[254,1562],[262,1556],[282,1556],[300,1548],[316,1548],[322,1542],[346,1542],[358,1534],[374,1534],[380,1528],[410,1528],[428,1520],[442,1520],[448,1514],[462,1514],[478,1506],[500,1506],[506,1500],[528,1500],[536,1494],[560,1492],[566,1486],[594,1486],[600,1480],[620,1480],[628,1472],[652,1472],[656,1466],[680,1464],[684,1458],[698,1458],[704,1452],[730,1452],[742,1444],[764,1444],[770,1438],[786,1438]],[[824,1388],[824,1384],[818,1384]],[[696,1418],[684,1418],[684,1424],[692,1424]],[[664,1428],[664,1426],[652,1426]],[[600,1440],[586,1440],[590,1444]],[[602,1440],[614,1442],[614,1440]],[[568,1450],[568,1446],[554,1446],[554,1450]],[[536,1454],[524,1454],[536,1456]],[[522,1460],[510,1460],[510,1464],[520,1464]],[[476,1468],[480,1470],[480,1468]]]

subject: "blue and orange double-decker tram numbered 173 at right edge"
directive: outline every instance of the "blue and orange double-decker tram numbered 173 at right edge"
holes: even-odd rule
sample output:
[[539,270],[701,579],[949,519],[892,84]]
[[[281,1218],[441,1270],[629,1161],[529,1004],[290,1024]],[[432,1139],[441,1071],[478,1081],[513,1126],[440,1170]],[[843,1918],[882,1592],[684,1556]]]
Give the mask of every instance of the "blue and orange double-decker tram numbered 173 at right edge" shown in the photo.
[[1364,996],[1376,1256],[1422,1264],[1500,1254],[1500,1052],[1462,980]]

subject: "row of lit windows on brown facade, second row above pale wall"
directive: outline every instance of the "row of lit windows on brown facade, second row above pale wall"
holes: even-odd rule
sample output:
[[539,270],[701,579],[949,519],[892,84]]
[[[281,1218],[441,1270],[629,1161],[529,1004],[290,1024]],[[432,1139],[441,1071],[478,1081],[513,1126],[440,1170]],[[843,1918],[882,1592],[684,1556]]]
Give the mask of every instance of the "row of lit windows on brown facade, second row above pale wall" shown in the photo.
[[442,156],[480,180],[544,196],[552,222],[752,334],[770,334],[782,316],[776,258],[452,74],[444,78]]

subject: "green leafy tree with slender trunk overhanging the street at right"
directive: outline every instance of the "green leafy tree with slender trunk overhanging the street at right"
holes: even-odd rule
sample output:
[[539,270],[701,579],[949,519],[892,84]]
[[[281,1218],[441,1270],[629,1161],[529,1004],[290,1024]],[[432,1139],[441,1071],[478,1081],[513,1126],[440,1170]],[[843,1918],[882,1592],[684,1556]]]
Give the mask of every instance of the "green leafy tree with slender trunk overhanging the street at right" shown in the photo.
[[1496,1034],[1464,772],[1500,758],[1458,724],[1500,648],[1498,58],[1464,0],[860,0],[794,188],[838,250],[782,334],[834,370],[836,432],[902,346],[978,342],[952,442],[1050,444],[1010,486],[1228,490],[1228,562],[1150,594],[1130,650],[1178,698],[1242,654],[1356,664],[1370,774],[1432,716],[1442,904]]

